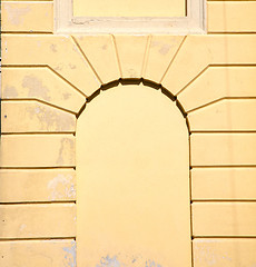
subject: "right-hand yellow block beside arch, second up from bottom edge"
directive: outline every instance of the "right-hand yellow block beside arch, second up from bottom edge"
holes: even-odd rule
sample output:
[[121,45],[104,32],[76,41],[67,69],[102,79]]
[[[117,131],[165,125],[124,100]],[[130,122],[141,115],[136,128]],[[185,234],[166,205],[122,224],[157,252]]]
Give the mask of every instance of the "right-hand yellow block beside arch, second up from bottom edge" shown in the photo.
[[194,237],[255,237],[256,202],[194,202]]

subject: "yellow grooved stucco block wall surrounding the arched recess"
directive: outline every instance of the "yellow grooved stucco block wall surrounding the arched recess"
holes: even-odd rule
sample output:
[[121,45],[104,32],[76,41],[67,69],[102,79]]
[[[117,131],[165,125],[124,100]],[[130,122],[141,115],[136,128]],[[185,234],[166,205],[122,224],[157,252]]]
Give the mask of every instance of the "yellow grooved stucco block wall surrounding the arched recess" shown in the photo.
[[77,265],[77,117],[120,78],[184,109],[193,266],[254,266],[256,1],[208,1],[207,34],[186,37],[55,34],[52,1],[1,4],[0,266]]

